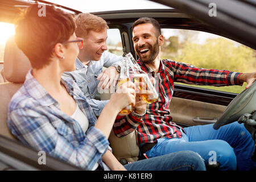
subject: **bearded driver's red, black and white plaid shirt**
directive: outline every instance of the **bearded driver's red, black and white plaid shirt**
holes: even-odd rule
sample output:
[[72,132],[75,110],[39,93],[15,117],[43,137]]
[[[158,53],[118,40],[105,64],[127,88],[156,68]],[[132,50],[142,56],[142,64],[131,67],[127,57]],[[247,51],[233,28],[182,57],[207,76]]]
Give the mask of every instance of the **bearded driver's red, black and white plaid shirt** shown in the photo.
[[[143,71],[154,76],[154,71],[150,67],[147,67],[140,60],[138,60],[138,64]],[[156,139],[163,137],[181,138],[181,130],[183,128],[171,122],[172,117],[169,110],[175,81],[194,85],[241,85],[238,82],[238,76],[241,73],[196,68],[193,65],[172,60],[161,60],[158,73],[158,101],[147,105],[147,113],[142,117],[143,122],[125,122],[122,117],[118,117],[118,119],[122,119],[121,121],[117,120],[114,124],[114,133],[118,137],[129,134],[134,129],[137,129],[138,142],[140,144],[152,143]]]

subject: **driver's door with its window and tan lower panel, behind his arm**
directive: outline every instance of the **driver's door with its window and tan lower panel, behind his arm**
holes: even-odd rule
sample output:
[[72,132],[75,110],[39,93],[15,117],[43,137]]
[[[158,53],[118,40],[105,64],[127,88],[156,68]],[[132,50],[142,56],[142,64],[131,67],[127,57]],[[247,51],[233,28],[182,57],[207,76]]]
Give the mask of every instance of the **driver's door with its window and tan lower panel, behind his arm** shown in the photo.
[[[162,29],[166,41],[162,46],[162,59],[192,64],[197,68],[256,71],[254,49],[203,29],[191,29],[174,28],[172,24]],[[175,82],[170,105],[173,121],[182,126],[215,123],[245,86],[195,86]]]

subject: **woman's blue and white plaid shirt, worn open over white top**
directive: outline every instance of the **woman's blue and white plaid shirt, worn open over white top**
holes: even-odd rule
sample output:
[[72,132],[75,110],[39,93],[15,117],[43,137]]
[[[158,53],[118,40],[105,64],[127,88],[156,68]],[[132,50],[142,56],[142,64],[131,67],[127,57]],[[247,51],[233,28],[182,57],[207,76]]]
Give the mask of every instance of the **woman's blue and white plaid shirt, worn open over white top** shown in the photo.
[[35,80],[31,71],[9,105],[7,125],[11,133],[22,143],[78,167],[91,170],[98,163],[109,170],[101,158],[108,150],[109,142],[94,127],[96,117],[84,93],[70,78],[63,78],[61,82],[88,117],[86,133],[75,119],[59,109],[59,103]]

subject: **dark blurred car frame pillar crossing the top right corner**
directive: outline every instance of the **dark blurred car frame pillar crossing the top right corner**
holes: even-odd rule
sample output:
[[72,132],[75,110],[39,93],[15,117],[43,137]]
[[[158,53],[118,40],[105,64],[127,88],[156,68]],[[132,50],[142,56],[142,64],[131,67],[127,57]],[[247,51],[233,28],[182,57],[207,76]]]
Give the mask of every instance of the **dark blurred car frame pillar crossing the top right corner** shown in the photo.
[[[253,1],[233,0],[150,0],[191,15],[216,28],[218,32],[236,38],[238,42],[256,48],[256,6]],[[215,3],[217,16],[209,16],[209,4]]]

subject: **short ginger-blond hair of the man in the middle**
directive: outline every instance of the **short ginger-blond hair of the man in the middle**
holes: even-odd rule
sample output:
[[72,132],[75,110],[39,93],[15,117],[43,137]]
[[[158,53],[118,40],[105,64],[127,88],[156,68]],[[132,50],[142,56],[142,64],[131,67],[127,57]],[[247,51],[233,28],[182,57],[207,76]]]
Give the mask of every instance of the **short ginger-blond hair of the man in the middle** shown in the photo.
[[76,35],[85,38],[89,31],[100,32],[108,29],[108,23],[100,16],[96,16],[90,13],[81,13],[75,16],[76,22]]

